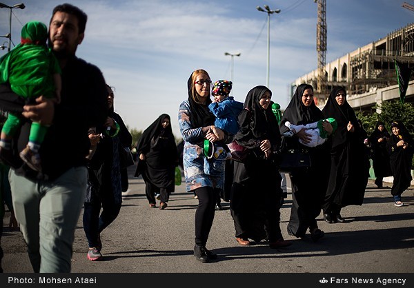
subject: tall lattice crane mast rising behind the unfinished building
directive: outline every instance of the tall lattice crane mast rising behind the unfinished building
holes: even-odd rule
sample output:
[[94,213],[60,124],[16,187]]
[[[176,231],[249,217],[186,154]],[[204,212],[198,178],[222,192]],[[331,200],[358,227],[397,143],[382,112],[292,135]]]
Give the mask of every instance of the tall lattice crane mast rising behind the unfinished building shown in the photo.
[[326,0],[315,0],[317,3],[316,50],[317,50],[317,93],[326,99]]

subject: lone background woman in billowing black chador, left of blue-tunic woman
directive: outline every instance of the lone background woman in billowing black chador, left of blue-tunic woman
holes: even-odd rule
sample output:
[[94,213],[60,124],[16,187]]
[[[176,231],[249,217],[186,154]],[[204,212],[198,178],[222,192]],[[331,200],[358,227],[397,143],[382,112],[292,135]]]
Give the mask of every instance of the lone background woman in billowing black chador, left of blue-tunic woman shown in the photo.
[[175,190],[175,167],[178,165],[177,145],[168,114],[159,116],[142,133],[137,154],[135,177],[142,175],[150,207],[156,207],[155,194],[160,194],[159,209],[165,209],[170,194]]

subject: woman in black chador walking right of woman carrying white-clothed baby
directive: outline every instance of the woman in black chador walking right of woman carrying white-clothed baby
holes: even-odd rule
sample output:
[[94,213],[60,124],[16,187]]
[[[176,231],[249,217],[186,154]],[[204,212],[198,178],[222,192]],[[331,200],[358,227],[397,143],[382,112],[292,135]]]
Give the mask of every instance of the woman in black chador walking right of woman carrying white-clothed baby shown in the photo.
[[362,128],[346,101],[345,88],[333,88],[322,113],[336,119],[338,125],[332,136],[331,175],[322,209],[326,222],[342,223],[342,207],[362,205],[364,201],[369,176],[368,155],[362,141]]

